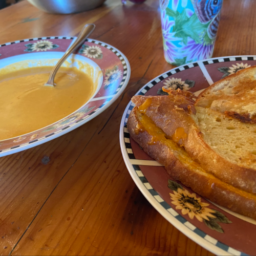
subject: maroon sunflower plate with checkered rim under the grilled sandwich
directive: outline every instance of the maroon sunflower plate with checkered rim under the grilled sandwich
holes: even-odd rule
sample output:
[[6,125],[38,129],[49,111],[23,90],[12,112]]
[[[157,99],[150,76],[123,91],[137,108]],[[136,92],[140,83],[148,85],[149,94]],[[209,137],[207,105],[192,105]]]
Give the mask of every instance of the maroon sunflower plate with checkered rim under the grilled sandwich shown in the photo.
[[[256,65],[256,56],[231,56],[194,62],[161,74],[136,95],[162,95],[164,92],[161,88],[165,85],[190,90],[198,95],[213,82],[252,65]],[[133,107],[134,104],[130,102],[124,111],[120,144],[127,169],[146,199],[166,220],[207,250],[218,255],[255,255],[256,221],[213,204],[170,178],[165,168],[130,138],[126,122]],[[183,195],[179,187],[183,187]],[[180,204],[182,197],[189,201],[187,207],[194,207],[194,211],[189,212]],[[204,210],[196,211],[198,207]],[[212,210],[214,218],[208,218]],[[205,217],[209,221],[205,221]]]

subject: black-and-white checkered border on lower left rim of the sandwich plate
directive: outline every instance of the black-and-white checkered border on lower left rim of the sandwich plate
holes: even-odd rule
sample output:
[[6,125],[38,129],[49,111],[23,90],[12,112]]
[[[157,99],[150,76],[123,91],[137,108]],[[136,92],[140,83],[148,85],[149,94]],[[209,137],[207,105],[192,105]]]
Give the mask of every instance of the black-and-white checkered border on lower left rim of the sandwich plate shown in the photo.
[[[133,106],[131,105],[128,112],[130,114],[131,110],[133,109]],[[126,118],[129,117],[129,114],[126,114]],[[125,118],[125,120],[126,120]],[[130,141],[130,134],[127,130],[127,125],[126,122],[124,122],[124,144],[125,144],[125,149],[127,152],[127,155],[130,159],[136,159],[133,151],[132,151],[132,145],[131,145],[131,141]],[[218,248],[229,252],[230,254],[233,255],[241,255],[241,256],[246,256],[248,254],[243,253],[241,251],[238,251],[232,247],[229,247],[223,243],[221,243],[220,241],[218,241],[215,238],[210,237],[208,234],[206,234],[205,232],[203,232],[202,230],[200,230],[199,228],[197,228],[196,226],[194,226],[193,224],[191,224],[189,221],[187,221],[185,218],[183,218],[180,214],[178,214],[178,212],[176,210],[174,210],[172,207],[170,207],[169,204],[167,204],[157,193],[157,191],[151,186],[151,184],[147,181],[147,179],[145,178],[145,176],[143,175],[143,173],[141,172],[141,169],[139,167],[139,165],[137,164],[132,164],[134,172],[137,174],[137,176],[139,177],[140,181],[143,183],[143,185],[146,187],[146,189],[150,192],[150,194],[154,197],[154,199],[161,205],[164,207],[165,210],[167,210],[169,212],[170,215],[172,215],[173,217],[176,218],[177,221],[181,222],[184,226],[186,226],[187,228],[189,228],[190,230],[192,230],[193,232],[195,232],[198,236],[200,236],[201,238],[205,239],[207,242],[211,243],[212,245],[217,246]]]

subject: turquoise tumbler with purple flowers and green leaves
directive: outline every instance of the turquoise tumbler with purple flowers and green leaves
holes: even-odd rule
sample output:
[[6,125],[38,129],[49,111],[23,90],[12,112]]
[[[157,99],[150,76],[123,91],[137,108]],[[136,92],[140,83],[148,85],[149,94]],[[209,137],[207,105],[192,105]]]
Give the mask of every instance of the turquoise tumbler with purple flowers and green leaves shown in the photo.
[[223,0],[160,0],[166,61],[180,66],[214,52]]

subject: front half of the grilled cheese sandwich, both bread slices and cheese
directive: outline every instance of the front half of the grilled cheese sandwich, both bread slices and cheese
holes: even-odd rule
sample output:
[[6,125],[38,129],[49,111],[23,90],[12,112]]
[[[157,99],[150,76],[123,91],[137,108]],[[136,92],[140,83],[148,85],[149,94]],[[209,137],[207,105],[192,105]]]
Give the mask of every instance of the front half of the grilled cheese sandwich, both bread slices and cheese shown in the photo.
[[[241,157],[240,162],[225,147],[220,148],[241,129],[246,134],[243,141],[255,140],[254,125],[197,106],[194,99],[193,94],[179,90],[168,96],[134,96],[136,106],[127,121],[131,137],[174,179],[219,205],[256,219],[253,145],[247,150],[246,143],[241,145],[241,152],[245,150],[244,156],[249,157],[247,161]],[[226,148],[236,145],[229,143]]]

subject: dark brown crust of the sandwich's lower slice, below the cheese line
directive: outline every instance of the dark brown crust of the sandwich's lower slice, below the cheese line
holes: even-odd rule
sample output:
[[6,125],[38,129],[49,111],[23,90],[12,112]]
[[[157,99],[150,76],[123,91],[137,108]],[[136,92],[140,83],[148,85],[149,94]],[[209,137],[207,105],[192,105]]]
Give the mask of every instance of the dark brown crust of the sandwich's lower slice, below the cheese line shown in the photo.
[[151,144],[153,136],[146,128],[144,131],[136,132],[140,122],[137,110],[136,107],[132,110],[127,121],[131,137],[148,155],[163,164],[170,176],[212,202],[256,220],[256,196],[226,184],[201,167],[194,167],[189,162],[180,160],[177,154],[161,141]]

